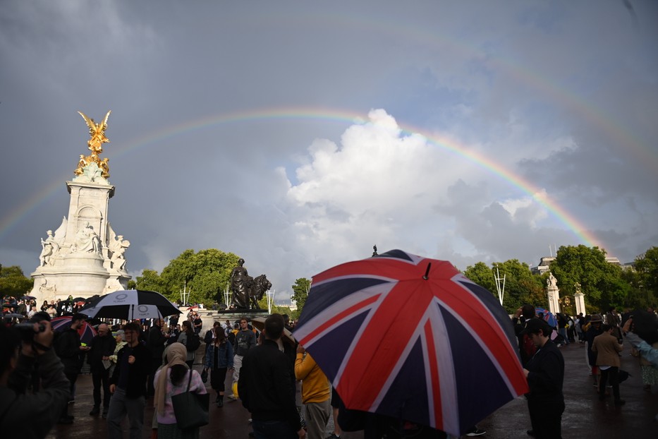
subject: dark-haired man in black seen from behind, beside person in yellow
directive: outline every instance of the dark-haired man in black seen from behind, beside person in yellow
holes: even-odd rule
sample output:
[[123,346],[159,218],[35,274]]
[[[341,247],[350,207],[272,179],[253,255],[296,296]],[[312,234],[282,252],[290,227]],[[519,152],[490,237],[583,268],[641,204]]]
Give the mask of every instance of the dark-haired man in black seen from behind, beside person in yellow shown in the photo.
[[265,320],[264,341],[242,359],[238,395],[252,414],[256,438],[305,438],[295,402],[289,360],[277,341],[284,333],[284,318],[272,314]]

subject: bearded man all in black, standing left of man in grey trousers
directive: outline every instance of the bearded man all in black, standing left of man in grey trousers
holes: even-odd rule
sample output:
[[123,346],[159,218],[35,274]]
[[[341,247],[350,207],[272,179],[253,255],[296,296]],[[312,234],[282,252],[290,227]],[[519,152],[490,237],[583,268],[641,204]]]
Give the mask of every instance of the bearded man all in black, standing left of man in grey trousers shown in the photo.
[[92,373],[92,383],[94,384],[94,407],[89,412],[90,416],[100,413],[101,407],[101,386],[103,388],[103,417],[107,416],[109,409],[109,368],[111,366],[110,356],[114,355],[116,340],[112,337],[109,327],[105,323],[98,325],[98,335],[91,342],[90,350],[87,354],[87,363],[89,363]]

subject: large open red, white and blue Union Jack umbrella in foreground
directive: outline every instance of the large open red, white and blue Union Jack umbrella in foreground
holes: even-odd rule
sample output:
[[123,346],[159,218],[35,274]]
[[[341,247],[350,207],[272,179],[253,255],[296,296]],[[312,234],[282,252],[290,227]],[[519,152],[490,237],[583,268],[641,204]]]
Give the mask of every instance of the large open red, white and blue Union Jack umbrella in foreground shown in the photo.
[[315,275],[294,335],[348,409],[451,435],[528,392],[508,314],[443,260],[393,250]]

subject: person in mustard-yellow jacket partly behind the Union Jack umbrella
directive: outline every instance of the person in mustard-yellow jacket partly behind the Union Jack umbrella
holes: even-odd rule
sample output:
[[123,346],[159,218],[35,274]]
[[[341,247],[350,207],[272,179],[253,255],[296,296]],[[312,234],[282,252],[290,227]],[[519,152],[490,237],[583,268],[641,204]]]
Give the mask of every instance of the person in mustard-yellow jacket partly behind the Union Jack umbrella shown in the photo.
[[302,381],[307,438],[324,439],[324,430],[331,416],[331,384],[301,344],[297,347],[295,377]]

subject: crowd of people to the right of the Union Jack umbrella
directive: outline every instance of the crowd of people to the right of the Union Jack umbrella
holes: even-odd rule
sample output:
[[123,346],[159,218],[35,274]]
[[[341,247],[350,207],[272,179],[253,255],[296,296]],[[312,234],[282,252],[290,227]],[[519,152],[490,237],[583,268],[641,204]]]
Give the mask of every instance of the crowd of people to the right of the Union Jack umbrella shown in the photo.
[[[559,348],[566,344],[586,344],[585,364],[602,403],[607,401],[611,389],[614,407],[626,404],[621,399],[619,384],[628,377],[628,373],[620,368],[623,337],[628,335],[634,355],[643,362],[642,381],[645,390],[658,386],[658,363],[652,362],[650,351],[642,353],[635,347],[642,341],[648,349],[658,349],[658,317],[652,308],[635,311],[635,314],[630,311],[620,314],[614,307],[606,313],[580,313],[575,317],[558,313],[557,326],[552,326],[547,323],[548,316],[537,313],[535,306],[528,304],[518,308],[512,320],[518,337],[523,371],[530,387],[530,392],[525,395],[531,423],[528,435],[535,438],[561,438],[561,416],[565,408],[562,392],[564,359]],[[633,319],[638,320],[640,317],[642,322],[633,325]],[[633,332],[642,338],[633,338]]]

